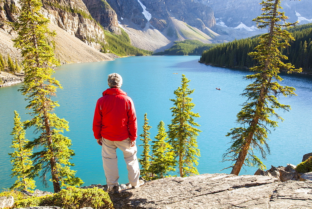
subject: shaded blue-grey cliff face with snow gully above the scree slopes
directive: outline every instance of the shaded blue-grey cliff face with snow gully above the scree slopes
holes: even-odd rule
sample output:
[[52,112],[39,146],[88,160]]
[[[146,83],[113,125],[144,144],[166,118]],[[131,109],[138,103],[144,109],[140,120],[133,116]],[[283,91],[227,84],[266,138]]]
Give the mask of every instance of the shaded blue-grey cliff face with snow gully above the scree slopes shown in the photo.
[[[120,22],[125,22],[122,20],[126,19],[142,29],[150,22],[156,29],[163,31],[168,26],[170,17],[178,18],[201,31],[204,31],[205,27],[213,28],[216,24],[212,9],[193,0],[107,0],[107,2],[116,11]],[[143,14],[144,10],[150,17]]]

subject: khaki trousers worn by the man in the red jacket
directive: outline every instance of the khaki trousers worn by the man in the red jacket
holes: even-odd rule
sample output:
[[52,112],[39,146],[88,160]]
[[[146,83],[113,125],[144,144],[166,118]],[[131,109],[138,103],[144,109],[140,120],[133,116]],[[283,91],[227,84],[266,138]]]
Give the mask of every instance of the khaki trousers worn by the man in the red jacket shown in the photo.
[[138,158],[136,156],[137,147],[130,147],[130,139],[122,141],[110,141],[102,139],[102,159],[103,168],[106,176],[106,182],[110,190],[118,185],[118,164],[117,164],[117,147],[124,153],[124,161],[127,165],[128,179],[131,186],[139,184],[140,168]]

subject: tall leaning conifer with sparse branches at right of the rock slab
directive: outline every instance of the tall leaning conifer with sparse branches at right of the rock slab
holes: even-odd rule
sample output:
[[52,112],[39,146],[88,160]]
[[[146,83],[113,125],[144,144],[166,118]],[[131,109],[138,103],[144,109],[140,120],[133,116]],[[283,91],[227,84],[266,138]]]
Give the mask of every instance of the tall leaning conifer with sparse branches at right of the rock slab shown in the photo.
[[[287,59],[281,54],[283,48],[289,46],[290,40],[294,40],[291,33],[283,30],[295,25],[286,23],[287,17],[279,12],[280,0],[262,1],[261,16],[254,19],[258,28],[268,28],[268,33],[260,36],[260,43],[255,48],[255,52],[249,53],[258,64],[251,68],[256,74],[247,75],[246,79],[255,80],[249,84],[242,94],[247,97],[244,107],[237,114],[236,122],[241,127],[231,129],[227,136],[232,136],[232,145],[223,155],[223,161],[235,162],[231,174],[238,175],[243,165],[257,166],[265,169],[261,160],[255,155],[254,150],[260,152],[262,158],[270,153],[266,143],[267,135],[270,133],[269,127],[275,128],[277,121],[272,117],[283,121],[274,109],[289,111],[289,105],[282,105],[278,102],[279,95],[295,95],[293,87],[281,86],[278,81],[282,78],[278,75],[280,69],[288,72],[300,72],[295,70],[290,63],[284,64],[281,59]],[[228,167],[229,168],[229,167]]]

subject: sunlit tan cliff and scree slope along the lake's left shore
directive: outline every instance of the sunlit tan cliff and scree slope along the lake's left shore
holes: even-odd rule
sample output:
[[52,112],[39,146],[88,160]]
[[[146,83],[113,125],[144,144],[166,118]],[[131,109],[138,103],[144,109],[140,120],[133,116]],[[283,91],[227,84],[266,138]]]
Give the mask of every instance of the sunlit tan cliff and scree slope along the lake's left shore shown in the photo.
[[[7,22],[16,22],[20,5],[17,0],[0,2],[0,54],[17,58],[19,51],[12,45],[16,32]],[[100,43],[105,44],[102,28],[91,17],[81,0],[45,1],[41,13],[50,19],[50,28],[56,30],[56,59],[63,62],[93,62],[113,60],[110,55],[99,52]],[[52,38],[50,38],[52,39]]]

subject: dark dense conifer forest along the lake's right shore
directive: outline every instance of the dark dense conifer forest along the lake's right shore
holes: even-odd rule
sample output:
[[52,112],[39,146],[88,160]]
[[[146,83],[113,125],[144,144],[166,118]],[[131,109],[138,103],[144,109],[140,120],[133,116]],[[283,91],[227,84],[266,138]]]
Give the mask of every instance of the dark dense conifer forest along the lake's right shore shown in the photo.
[[[292,33],[295,41],[290,42],[290,47],[284,49],[289,59],[285,63],[291,63],[296,68],[312,69],[312,23],[298,25],[288,29]],[[216,45],[202,53],[200,62],[225,67],[250,68],[254,66],[256,60],[247,55],[253,52],[259,43],[259,37],[244,38],[234,40],[229,43]]]

